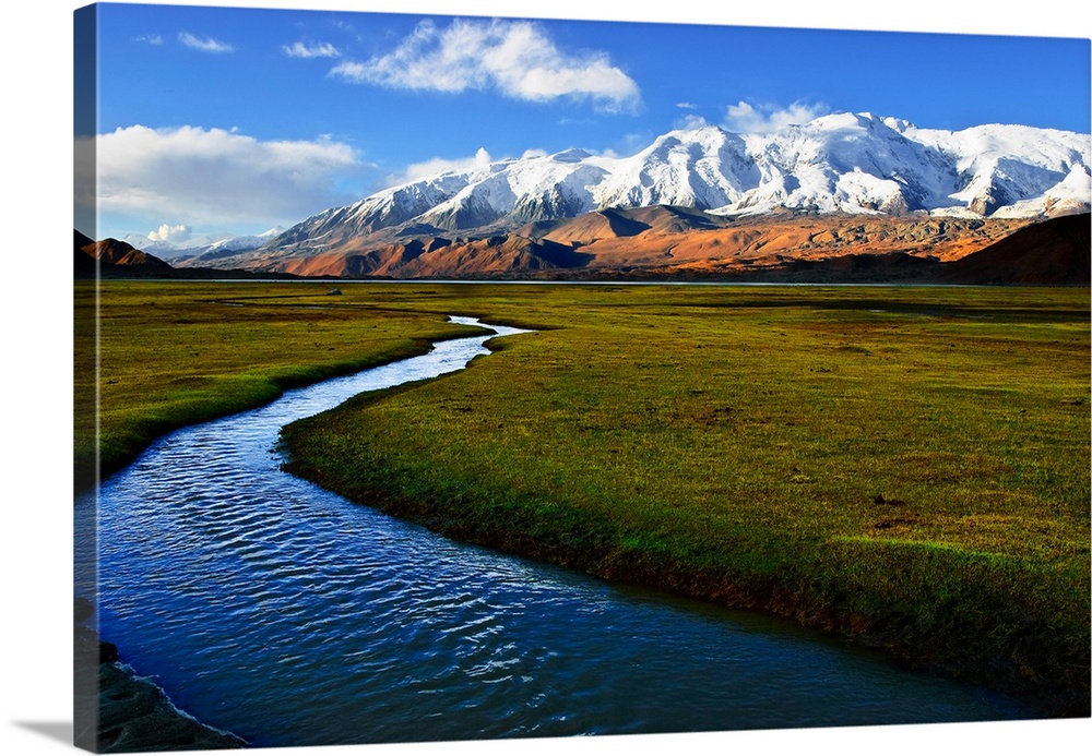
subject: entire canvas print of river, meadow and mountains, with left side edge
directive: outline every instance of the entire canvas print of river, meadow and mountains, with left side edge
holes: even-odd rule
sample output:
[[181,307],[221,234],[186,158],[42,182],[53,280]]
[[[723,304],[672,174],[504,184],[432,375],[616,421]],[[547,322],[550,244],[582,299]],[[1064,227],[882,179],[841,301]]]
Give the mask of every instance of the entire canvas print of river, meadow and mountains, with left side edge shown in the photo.
[[1089,717],[1089,39],[74,22],[76,745]]

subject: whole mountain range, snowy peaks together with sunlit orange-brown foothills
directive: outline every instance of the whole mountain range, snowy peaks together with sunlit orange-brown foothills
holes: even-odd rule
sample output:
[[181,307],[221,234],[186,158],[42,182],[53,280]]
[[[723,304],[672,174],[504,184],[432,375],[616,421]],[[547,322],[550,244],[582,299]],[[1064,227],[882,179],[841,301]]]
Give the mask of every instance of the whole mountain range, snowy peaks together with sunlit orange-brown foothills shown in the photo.
[[870,113],[768,134],[703,125],[629,157],[567,149],[449,170],[174,262],[465,277],[717,274],[860,253],[946,261],[1088,213],[1090,163],[1088,134],[1022,125],[942,131]]

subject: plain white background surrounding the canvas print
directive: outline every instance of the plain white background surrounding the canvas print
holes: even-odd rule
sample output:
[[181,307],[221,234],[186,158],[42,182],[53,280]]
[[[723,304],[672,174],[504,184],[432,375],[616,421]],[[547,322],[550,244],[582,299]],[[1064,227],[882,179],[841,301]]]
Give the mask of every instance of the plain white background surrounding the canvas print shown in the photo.
[[[66,0],[12,3],[0,27],[3,89],[2,221],[3,380],[0,507],[5,657],[0,752],[15,756],[71,752],[71,251],[72,11]],[[162,3],[157,3],[162,4]],[[181,4],[181,3],[176,3]],[[723,0],[273,0],[190,4],[278,7],[405,13],[512,15],[717,23],[816,28],[959,32],[1088,39],[1082,0],[1049,3],[916,0],[828,3],[781,0],[731,7]],[[1043,72],[1049,75],[1048,71]],[[1029,723],[851,728],[673,736],[615,736],[439,745],[274,748],[264,753],[333,754],[883,753],[1026,754],[1092,742],[1092,720]]]

